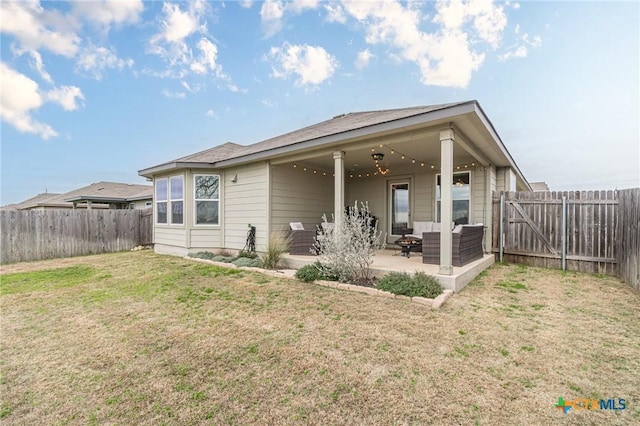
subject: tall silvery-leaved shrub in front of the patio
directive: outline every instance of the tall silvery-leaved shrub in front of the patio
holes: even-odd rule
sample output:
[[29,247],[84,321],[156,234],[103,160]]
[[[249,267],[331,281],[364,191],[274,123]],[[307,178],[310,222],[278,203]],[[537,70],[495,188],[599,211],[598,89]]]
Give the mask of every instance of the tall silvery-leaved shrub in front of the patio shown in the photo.
[[[327,221],[326,215],[322,217]],[[342,217],[342,229],[330,229],[318,239],[322,271],[339,281],[368,285],[372,281],[370,266],[373,253],[385,246],[383,232],[369,213],[369,206],[356,202]]]

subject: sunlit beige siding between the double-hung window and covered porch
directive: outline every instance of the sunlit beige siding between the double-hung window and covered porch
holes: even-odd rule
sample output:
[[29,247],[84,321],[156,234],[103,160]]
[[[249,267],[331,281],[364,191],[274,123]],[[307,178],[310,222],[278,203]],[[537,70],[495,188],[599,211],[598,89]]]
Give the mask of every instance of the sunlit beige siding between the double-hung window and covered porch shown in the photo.
[[[237,176],[236,182],[232,182]],[[256,250],[264,251],[269,235],[269,166],[266,162],[226,169],[221,202],[224,247],[240,250],[248,225],[256,227]],[[192,241],[193,244],[193,241]]]

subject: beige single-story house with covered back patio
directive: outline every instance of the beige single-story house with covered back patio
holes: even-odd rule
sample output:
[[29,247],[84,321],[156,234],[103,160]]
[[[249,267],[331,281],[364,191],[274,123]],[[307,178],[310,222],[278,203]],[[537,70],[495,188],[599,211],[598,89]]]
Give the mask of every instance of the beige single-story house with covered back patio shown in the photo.
[[[491,250],[492,192],[530,191],[480,104],[340,114],[252,145],[232,142],[139,171],[154,184],[154,247],[186,255],[256,249],[291,222],[367,202],[388,242],[414,221],[483,223]],[[312,228],[313,229],[313,228]],[[442,233],[440,273],[451,274]]]

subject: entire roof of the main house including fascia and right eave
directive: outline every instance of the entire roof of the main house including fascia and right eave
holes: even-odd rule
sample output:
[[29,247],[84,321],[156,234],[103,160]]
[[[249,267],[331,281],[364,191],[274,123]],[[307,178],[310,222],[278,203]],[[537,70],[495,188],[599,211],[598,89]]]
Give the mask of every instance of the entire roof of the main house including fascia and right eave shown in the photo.
[[[178,158],[138,171],[140,176],[153,177],[183,168],[222,168],[252,161],[275,158],[304,149],[316,149],[329,145],[348,143],[356,138],[375,137],[385,132],[401,132],[412,126],[445,125],[465,116],[467,123],[474,122],[475,130],[483,128],[483,134],[495,144],[488,149],[494,164],[512,166],[522,182],[528,182],[519,170],[511,154],[502,143],[493,124],[477,101],[454,102],[439,105],[416,106],[379,111],[340,114],[330,120],[294,130],[252,145],[227,142],[223,145]],[[499,164],[503,163],[503,164]]]

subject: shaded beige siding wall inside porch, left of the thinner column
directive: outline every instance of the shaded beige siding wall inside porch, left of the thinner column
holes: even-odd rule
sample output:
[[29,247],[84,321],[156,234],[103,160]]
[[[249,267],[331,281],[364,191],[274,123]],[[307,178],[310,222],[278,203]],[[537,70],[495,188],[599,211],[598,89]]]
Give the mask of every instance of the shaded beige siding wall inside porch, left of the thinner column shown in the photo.
[[290,222],[314,227],[326,214],[333,214],[334,179],[293,168],[292,164],[271,168],[271,225],[273,231],[289,229]]

